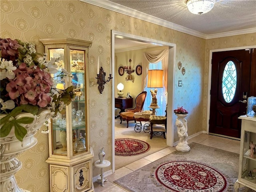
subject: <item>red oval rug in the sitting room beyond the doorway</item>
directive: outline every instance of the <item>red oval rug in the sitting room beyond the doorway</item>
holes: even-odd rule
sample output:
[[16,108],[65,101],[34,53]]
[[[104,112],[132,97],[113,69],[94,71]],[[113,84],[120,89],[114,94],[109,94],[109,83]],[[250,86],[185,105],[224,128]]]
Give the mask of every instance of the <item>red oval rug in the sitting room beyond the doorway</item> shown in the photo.
[[117,156],[134,156],[146,153],[150,150],[147,142],[137,139],[115,139],[115,155]]

